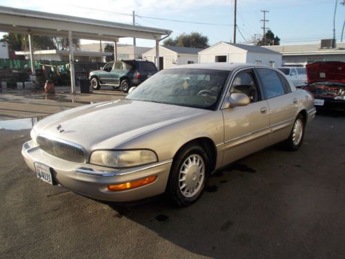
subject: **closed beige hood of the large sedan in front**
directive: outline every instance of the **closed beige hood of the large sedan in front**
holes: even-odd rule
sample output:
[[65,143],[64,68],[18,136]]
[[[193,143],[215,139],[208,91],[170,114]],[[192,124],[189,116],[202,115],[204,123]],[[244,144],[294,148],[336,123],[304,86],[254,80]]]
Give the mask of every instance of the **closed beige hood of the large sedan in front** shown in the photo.
[[155,128],[206,113],[210,111],[122,99],[57,113],[38,122],[34,131],[80,144],[91,151],[115,148]]

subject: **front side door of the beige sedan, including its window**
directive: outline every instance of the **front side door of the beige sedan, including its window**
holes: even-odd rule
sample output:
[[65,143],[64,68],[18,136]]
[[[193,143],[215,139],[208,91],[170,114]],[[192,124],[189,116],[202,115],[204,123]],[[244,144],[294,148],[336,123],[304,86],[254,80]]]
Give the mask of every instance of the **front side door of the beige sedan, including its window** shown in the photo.
[[267,145],[270,115],[253,68],[240,70],[230,83],[232,93],[248,95],[250,104],[222,110],[224,117],[224,164],[254,153]]

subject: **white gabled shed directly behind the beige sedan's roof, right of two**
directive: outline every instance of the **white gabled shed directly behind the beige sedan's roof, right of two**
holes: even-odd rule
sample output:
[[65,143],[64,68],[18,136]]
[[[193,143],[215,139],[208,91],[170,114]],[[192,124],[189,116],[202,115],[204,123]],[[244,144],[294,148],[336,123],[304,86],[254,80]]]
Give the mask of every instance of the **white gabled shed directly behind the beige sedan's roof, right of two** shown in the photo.
[[199,63],[250,63],[282,66],[282,54],[260,46],[231,44],[221,41],[199,52]]

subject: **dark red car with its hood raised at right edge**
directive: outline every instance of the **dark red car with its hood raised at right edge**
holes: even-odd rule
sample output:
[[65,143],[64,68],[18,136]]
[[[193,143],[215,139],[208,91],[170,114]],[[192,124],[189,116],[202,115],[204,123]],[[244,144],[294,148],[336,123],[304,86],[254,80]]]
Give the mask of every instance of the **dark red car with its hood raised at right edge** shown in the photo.
[[308,86],[317,108],[345,111],[345,63],[320,61],[306,66]]

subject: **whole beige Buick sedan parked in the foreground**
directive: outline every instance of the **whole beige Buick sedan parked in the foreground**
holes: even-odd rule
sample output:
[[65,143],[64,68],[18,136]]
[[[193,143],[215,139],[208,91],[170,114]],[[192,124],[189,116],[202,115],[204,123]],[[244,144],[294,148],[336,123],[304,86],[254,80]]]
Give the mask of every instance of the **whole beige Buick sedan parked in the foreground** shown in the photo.
[[297,150],[315,111],[313,97],[275,68],[176,66],[124,99],[42,119],[22,154],[44,182],[91,198],[165,192],[186,206],[222,166],[277,142]]

